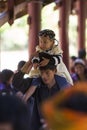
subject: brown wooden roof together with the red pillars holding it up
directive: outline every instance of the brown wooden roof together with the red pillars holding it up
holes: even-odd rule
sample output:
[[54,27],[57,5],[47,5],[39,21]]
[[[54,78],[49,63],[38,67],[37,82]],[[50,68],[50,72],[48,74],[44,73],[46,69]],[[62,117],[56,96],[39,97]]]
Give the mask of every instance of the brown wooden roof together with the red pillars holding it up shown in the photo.
[[[76,14],[78,21],[78,50],[85,48],[85,21],[87,19],[87,0],[0,0],[0,27],[8,22],[10,25],[14,20],[28,14],[29,24],[28,50],[31,55],[38,44],[38,32],[41,29],[41,9],[55,2],[54,10],[59,10],[59,40],[63,50],[63,60],[69,67],[69,38],[68,20],[69,15]],[[37,17],[38,16],[38,17]]]

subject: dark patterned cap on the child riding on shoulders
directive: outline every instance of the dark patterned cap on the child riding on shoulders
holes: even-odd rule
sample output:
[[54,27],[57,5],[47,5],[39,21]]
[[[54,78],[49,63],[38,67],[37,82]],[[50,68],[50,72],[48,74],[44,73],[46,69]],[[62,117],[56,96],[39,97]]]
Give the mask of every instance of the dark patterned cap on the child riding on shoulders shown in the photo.
[[44,37],[49,36],[50,39],[55,39],[55,33],[50,29],[41,30],[39,32],[39,36],[44,36]]

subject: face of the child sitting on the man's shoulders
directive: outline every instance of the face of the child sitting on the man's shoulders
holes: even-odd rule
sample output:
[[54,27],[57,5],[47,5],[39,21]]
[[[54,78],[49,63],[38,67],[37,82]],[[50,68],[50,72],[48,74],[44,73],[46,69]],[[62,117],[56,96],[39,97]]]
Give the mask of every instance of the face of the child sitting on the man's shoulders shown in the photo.
[[49,36],[39,36],[39,46],[42,50],[49,50],[53,47],[54,40],[50,39]]

